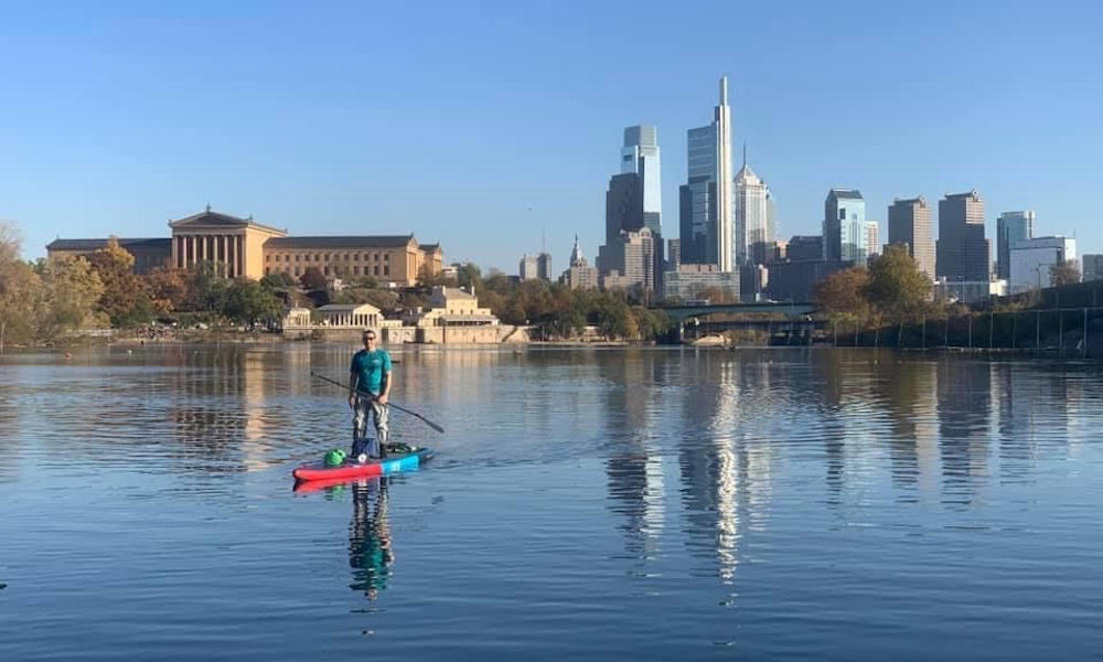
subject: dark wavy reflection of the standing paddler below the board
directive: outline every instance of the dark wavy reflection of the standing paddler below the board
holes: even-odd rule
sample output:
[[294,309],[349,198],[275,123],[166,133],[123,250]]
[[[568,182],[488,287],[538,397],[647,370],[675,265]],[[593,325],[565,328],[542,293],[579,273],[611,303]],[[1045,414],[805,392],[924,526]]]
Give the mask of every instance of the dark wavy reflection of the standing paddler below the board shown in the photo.
[[[373,508],[374,506],[374,508]],[[374,600],[387,587],[395,554],[387,522],[387,479],[360,481],[352,485],[352,524],[349,525],[349,566],[355,591]]]

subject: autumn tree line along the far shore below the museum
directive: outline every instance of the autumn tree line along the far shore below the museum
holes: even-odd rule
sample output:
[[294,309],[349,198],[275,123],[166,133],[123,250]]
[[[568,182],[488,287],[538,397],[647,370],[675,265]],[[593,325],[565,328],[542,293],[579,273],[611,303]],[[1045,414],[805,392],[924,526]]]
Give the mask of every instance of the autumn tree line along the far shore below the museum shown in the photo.
[[286,274],[226,278],[212,263],[136,274],[133,256],[115,241],[87,257],[62,259],[24,261],[21,248],[18,228],[0,223],[0,351],[72,343],[111,330],[150,339],[211,337],[180,330],[278,332],[292,306],[371,303],[386,317],[398,317],[428,306],[429,291],[438,285],[478,292],[481,305],[503,323],[531,325],[547,341],[576,338],[587,327],[609,341],[650,341],[671,327],[665,313],[624,292],[517,282],[497,271],[483,277],[470,264],[458,269],[456,279],[422,275],[415,287],[386,288],[364,276],[347,278],[346,287],[332,291],[317,268],[298,279]]

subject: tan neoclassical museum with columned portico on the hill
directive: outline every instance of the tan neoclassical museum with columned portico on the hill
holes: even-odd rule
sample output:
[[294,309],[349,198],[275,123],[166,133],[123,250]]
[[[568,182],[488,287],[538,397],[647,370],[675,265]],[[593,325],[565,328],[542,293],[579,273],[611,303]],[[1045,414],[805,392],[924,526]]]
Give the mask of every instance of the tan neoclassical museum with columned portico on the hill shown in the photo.
[[[258,279],[268,274],[301,276],[317,267],[331,277],[373,276],[381,284],[410,286],[422,267],[440,273],[439,244],[418,244],[414,235],[288,236],[286,229],[211,211],[170,221],[168,238],[117,239],[135,257],[135,269],[188,268],[202,261],[219,265],[231,278]],[[52,258],[87,255],[108,239],[55,239],[46,245]]]

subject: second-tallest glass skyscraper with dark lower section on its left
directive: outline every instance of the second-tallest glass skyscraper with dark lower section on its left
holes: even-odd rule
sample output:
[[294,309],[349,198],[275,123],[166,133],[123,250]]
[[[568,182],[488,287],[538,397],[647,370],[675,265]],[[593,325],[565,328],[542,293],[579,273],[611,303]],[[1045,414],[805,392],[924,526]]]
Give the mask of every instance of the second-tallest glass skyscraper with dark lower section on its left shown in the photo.
[[655,127],[624,129],[621,172],[610,178],[606,193],[604,245],[613,246],[623,233],[635,233],[646,227],[656,242],[656,248],[651,253],[655,264],[649,269],[649,274],[653,275],[653,282],[649,285],[652,289],[660,287],[663,264],[660,170]]

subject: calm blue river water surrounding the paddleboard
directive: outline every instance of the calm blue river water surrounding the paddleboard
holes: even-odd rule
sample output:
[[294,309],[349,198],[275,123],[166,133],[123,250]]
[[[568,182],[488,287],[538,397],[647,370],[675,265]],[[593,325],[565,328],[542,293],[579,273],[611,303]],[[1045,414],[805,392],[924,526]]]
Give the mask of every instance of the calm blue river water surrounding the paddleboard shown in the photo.
[[[845,350],[0,360],[2,660],[1045,660],[1103,650],[1097,366]],[[370,655],[370,658],[368,658]],[[357,656],[357,658],[353,658]]]

